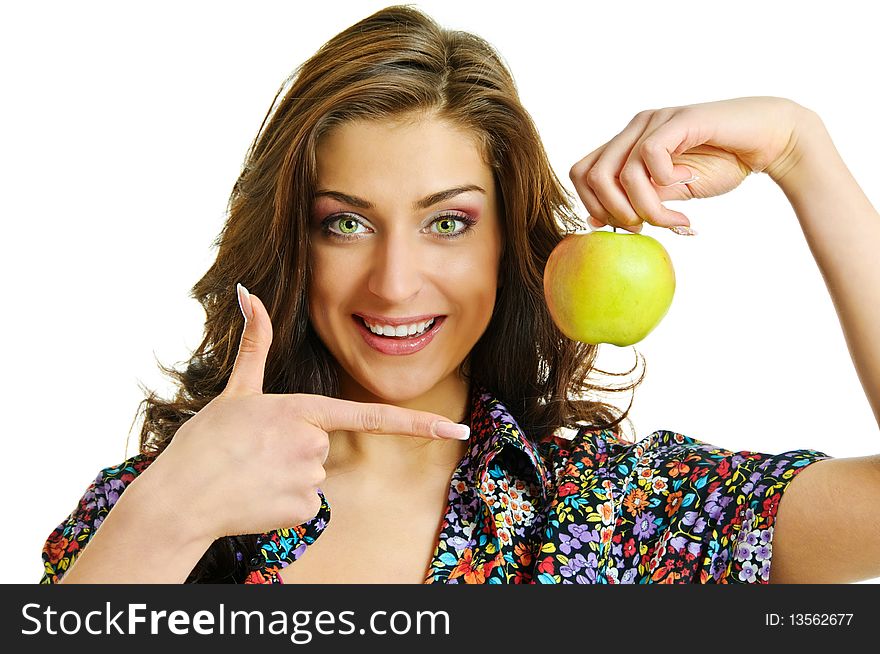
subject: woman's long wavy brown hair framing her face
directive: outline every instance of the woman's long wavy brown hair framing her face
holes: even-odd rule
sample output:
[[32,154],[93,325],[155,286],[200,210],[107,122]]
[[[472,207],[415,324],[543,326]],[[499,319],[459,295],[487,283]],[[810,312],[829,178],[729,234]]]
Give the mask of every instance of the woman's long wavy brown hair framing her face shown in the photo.
[[[621,413],[584,397],[635,389],[644,372],[631,384],[593,383],[591,372],[625,377],[635,367],[625,373],[596,369],[598,347],[565,337],[548,313],[542,281],[547,258],[566,233],[584,227],[510,72],[485,40],[443,29],[404,5],[378,11],[330,39],[275,95],[232,189],[217,258],[191,292],[206,313],[204,340],[182,370],[159,364],[178,385],[173,400],[144,389],[142,454],[161,453],[225,387],[243,328],[237,282],[263,300],[272,319],[264,391],[339,397],[335,362],[308,315],[316,144],[346,121],[413,112],[474,134],[498,189],[500,288],[463,374],[498,397],[535,440],[561,426],[610,429],[626,418],[629,407]],[[252,535],[220,538],[187,581],[240,582],[246,570],[235,552],[244,552],[246,561],[255,547]]]

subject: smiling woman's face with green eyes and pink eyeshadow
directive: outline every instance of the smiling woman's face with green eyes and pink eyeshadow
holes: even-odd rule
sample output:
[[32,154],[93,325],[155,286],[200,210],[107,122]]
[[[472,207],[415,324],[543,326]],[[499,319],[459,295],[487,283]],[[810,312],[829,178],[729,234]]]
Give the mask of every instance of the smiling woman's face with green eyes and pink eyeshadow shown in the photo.
[[[317,165],[309,315],[343,393],[405,402],[453,382],[492,317],[501,256],[476,143],[436,118],[349,122],[321,139]],[[431,316],[417,351],[417,336],[365,326]]]

